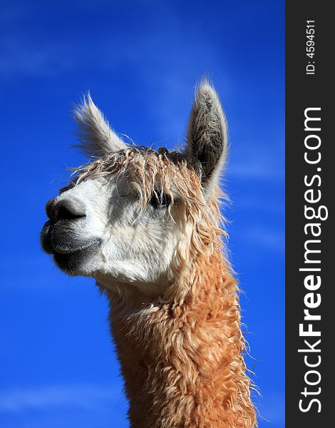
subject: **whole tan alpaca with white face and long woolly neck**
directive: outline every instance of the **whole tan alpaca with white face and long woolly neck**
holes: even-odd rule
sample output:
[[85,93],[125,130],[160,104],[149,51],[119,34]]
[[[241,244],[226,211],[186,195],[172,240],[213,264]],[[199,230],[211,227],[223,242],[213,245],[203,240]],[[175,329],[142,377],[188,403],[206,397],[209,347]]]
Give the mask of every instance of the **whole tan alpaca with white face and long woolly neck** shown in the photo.
[[197,87],[180,152],[127,146],[89,95],[74,118],[93,161],[46,204],[41,243],[108,297],[130,426],[257,426],[220,228],[227,125],[215,89]]

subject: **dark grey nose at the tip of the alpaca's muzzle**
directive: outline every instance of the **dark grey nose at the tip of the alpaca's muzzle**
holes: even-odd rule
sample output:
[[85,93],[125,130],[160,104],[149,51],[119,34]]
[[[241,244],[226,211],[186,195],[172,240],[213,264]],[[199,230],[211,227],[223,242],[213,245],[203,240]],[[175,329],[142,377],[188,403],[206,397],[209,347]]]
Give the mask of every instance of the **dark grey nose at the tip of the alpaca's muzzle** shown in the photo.
[[53,223],[59,220],[74,220],[86,217],[85,206],[78,199],[61,198],[51,199],[46,203],[46,215]]

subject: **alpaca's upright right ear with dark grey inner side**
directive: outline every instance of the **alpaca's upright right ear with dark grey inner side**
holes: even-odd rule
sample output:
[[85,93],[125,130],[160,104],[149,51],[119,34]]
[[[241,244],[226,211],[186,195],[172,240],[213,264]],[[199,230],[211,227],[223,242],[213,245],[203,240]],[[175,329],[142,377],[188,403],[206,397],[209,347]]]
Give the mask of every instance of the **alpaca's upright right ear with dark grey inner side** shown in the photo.
[[202,81],[195,92],[186,156],[210,195],[227,158],[227,123],[219,97],[207,81]]

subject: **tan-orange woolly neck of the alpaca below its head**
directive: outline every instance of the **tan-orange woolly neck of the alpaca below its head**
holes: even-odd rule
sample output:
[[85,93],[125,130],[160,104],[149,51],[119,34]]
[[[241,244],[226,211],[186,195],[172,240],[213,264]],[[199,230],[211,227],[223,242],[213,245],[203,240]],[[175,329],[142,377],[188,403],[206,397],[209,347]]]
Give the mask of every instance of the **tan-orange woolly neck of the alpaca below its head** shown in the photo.
[[132,315],[110,295],[110,325],[132,428],[251,428],[256,422],[242,352],[237,283],[221,253],[196,260],[181,305]]

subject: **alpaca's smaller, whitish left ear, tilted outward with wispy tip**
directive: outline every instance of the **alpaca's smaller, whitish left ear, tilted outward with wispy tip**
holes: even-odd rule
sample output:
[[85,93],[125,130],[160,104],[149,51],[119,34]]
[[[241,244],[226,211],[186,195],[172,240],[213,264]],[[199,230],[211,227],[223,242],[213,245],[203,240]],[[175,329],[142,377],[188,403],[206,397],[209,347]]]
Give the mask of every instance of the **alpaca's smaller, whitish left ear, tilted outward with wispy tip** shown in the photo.
[[103,113],[93,103],[90,93],[83,98],[83,103],[76,106],[73,118],[78,124],[81,141],[78,146],[86,156],[105,156],[127,147],[110,128]]

